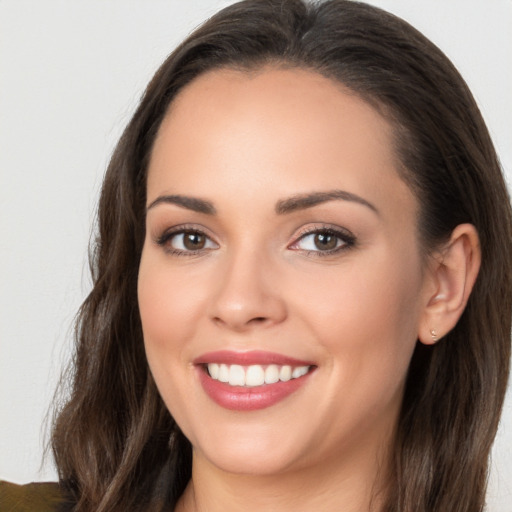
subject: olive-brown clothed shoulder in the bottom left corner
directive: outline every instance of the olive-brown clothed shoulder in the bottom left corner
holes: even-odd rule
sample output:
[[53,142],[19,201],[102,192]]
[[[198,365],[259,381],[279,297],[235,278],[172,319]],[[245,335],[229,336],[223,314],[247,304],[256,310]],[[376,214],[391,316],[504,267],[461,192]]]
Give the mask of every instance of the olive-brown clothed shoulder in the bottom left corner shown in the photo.
[[58,483],[17,485],[0,481],[1,512],[65,512],[71,506]]

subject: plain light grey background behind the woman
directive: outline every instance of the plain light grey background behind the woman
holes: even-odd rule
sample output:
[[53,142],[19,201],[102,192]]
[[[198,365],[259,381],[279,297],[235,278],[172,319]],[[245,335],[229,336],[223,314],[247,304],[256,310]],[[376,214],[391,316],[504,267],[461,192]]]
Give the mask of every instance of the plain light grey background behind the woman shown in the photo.
[[[0,478],[41,466],[45,414],[90,288],[87,244],[109,155],[164,57],[230,0],[0,0]],[[512,0],[373,0],[454,61],[512,181]],[[512,511],[512,398],[489,511]]]

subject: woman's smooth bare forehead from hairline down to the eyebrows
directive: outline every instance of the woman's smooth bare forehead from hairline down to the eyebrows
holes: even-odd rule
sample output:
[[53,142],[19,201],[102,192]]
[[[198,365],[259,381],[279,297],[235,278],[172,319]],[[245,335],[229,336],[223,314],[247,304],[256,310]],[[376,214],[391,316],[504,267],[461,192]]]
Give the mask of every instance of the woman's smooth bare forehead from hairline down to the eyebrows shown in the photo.
[[389,193],[411,195],[393,147],[379,112],[318,73],[215,70],[171,104],[152,153],[148,200],[163,192],[221,198],[223,183],[227,199],[242,190],[284,197],[342,188],[382,203]]

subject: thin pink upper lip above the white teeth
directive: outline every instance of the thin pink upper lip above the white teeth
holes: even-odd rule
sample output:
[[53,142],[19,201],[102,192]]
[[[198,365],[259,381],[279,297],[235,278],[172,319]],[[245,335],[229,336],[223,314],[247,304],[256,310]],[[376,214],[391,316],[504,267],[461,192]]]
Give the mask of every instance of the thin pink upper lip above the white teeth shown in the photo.
[[311,361],[304,361],[294,357],[285,356],[276,352],[267,352],[263,350],[250,350],[247,352],[237,352],[234,350],[217,350],[207,352],[196,357],[193,361],[196,365],[208,363],[217,364],[238,364],[240,366],[259,365],[290,365],[290,366],[313,366]]

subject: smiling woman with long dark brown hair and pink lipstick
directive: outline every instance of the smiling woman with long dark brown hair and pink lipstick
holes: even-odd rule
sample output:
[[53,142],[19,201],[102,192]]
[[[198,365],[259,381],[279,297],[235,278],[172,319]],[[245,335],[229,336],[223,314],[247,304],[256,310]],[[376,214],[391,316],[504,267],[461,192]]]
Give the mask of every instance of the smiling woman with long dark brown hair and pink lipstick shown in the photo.
[[336,0],[221,11],[105,177],[53,436],[68,507],[483,510],[511,231],[418,32]]

